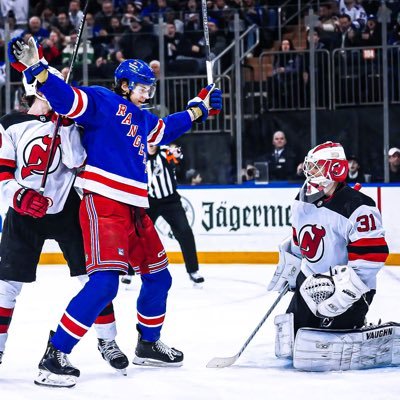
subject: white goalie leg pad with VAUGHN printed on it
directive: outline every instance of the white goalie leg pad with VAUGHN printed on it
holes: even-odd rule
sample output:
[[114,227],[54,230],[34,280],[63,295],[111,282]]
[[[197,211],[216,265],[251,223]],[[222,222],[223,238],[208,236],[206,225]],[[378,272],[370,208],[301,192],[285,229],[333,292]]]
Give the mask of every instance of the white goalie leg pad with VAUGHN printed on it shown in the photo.
[[303,371],[347,371],[400,365],[400,324],[352,330],[301,328],[293,366]]

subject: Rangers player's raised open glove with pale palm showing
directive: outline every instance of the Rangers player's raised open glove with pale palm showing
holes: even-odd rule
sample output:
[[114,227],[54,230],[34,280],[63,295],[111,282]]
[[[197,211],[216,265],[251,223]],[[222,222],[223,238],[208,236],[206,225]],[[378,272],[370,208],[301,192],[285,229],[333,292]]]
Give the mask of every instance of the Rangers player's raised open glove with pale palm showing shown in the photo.
[[[11,66],[23,72],[28,83],[32,83],[41,72],[48,68],[47,61],[43,58],[42,46],[37,44],[33,36],[29,38],[28,43],[25,43],[21,37],[10,40],[8,57]],[[41,82],[45,80],[39,79]]]

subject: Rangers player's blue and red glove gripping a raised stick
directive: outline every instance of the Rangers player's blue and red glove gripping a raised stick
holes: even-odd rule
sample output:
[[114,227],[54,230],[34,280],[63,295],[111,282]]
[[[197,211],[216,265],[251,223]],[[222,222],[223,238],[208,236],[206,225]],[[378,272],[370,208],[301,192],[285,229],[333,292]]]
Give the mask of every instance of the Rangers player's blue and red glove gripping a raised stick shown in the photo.
[[204,122],[209,115],[216,115],[222,109],[222,92],[211,83],[188,102],[186,107],[194,115],[194,122]]

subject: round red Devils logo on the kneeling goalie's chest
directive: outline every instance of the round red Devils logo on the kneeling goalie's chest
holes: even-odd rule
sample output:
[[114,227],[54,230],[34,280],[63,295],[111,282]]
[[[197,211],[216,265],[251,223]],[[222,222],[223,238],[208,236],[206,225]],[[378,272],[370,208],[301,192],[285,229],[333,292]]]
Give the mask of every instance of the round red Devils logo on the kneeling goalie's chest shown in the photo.
[[324,255],[325,228],[317,225],[304,225],[299,233],[301,254],[310,262],[318,262]]

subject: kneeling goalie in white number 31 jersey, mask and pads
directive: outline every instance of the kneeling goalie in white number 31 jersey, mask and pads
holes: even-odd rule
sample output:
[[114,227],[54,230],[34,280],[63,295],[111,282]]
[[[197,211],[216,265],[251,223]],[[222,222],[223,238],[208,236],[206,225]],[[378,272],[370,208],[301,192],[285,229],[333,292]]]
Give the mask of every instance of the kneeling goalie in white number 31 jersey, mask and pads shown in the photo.
[[[280,292],[289,285],[294,291],[286,313],[275,318],[275,353],[293,357],[303,370],[400,363],[399,325],[365,326],[388,246],[375,202],[346,185],[347,173],[339,143],[308,152],[306,181],[292,205],[293,235],[280,246],[268,286]],[[385,340],[377,343],[382,335]]]

